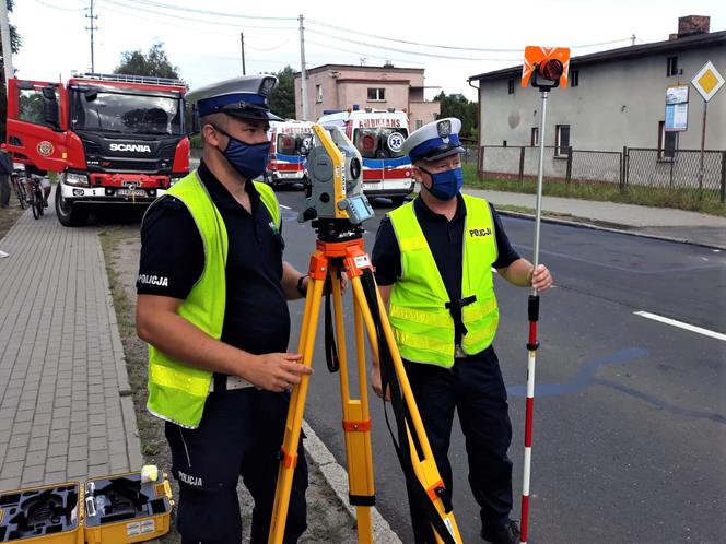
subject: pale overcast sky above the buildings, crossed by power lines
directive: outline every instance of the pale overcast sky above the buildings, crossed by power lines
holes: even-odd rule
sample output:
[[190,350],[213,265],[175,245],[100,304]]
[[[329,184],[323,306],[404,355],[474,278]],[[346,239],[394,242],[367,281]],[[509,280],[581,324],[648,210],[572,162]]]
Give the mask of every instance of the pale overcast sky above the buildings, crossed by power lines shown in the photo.
[[[10,20],[23,38],[13,59],[20,78],[58,81],[72,70],[90,71],[90,2],[16,0]],[[247,74],[277,72],[288,64],[300,70],[302,14],[308,69],[390,60],[397,67],[425,68],[425,84],[441,87],[429,91],[426,98],[444,90],[476,99],[467,79],[520,64],[527,45],[569,46],[575,57],[627,46],[633,34],[636,44],[659,42],[677,31],[679,16],[689,14],[710,15],[711,31],[723,31],[723,0],[95,0],[95,69],[112,72],[122,51],[147,51],[160,40],[194,88],[242,74],[244,32]],[[608,44],[592,45],[602,43]]]

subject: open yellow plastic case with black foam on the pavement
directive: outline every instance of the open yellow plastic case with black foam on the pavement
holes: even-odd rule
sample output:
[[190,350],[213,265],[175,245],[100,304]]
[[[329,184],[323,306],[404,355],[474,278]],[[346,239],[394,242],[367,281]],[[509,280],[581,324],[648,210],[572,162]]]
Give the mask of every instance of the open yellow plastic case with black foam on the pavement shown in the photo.
[[174,507],[166,474],[140,472],[7,492],[0,495],[0,543],[126,544],[169,531]]

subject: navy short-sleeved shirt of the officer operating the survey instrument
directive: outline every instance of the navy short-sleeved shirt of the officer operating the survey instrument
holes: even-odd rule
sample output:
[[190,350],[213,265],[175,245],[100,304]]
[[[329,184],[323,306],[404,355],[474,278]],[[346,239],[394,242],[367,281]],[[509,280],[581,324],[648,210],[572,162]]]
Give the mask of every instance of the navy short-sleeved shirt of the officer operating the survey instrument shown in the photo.
[[[247,212],[202,162],[197,170],[222,215],[229,239],[226,309],[222,341],[246,352],[285,352],[290,312],[282,279],[282,235],[251,182]],[[141,225],[141,264],[137,293],[186,298],[201,276],[204,249],[187,208],[166,197]]]

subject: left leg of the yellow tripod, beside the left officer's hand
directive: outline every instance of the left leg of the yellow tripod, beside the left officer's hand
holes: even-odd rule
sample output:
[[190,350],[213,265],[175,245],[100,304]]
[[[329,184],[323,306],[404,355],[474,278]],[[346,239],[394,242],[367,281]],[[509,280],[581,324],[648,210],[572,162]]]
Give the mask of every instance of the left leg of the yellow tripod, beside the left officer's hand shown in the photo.
[[[298,353],[303,354],[303,365],[313,366],[313,348],[315,347],[315,332],[317,331],[318,316],[320,315],[320,301],[323,299],[324,280],[311,277],[305,299],[305,312],[303,315],[303,328],[301,330]],[[290,507],[290,493],[292,490],[292,478],[297,464],[297,447],[300,445],[301,426],[305,411],[305,399],[309,375],[303,375],[300,385],[295,386],[290,399],[288,419],[285,423],[284,439],[282,441],[280,471],[274,489],[274,506],[270,521],[269,544],[281,544],[284,537],[285,523],[288,521],[288,508]]]

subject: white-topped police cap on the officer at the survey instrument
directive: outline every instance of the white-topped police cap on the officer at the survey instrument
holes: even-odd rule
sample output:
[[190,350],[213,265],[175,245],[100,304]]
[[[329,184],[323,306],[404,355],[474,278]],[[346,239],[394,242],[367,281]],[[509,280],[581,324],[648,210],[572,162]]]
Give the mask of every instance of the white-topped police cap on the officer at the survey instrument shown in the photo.
[[270,113],[268,98],[278,79],[273,75],[243,75],[195,88],[186,95],[197,105],[199,117],[223,113],[241,119],[281,120]]

